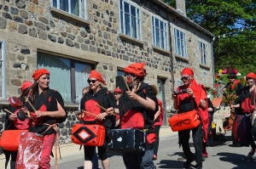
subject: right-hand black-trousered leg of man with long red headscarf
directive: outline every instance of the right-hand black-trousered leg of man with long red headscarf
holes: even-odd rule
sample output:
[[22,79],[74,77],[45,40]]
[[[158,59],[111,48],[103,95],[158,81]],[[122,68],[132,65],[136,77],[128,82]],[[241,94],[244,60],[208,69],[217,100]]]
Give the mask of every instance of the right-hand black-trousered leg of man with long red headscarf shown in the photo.
[[203,130],[201,124],[192,130],[193,142],[195,145],[195,161],[197,167],[202,167],[202,142],[203,142]]

